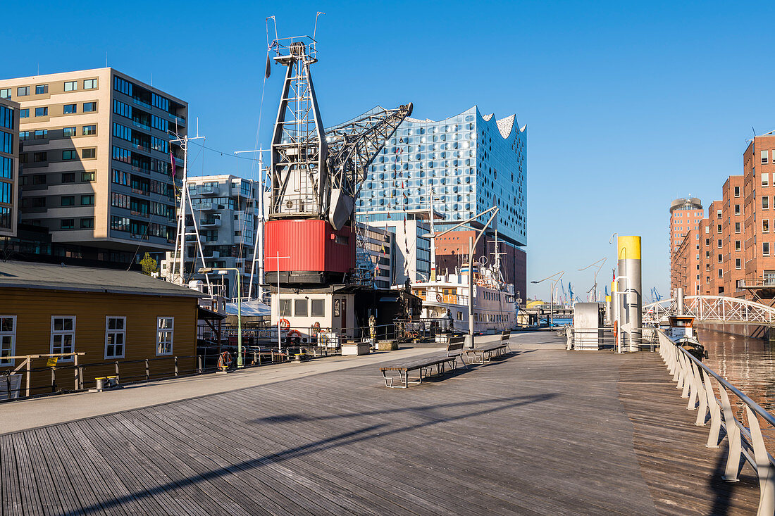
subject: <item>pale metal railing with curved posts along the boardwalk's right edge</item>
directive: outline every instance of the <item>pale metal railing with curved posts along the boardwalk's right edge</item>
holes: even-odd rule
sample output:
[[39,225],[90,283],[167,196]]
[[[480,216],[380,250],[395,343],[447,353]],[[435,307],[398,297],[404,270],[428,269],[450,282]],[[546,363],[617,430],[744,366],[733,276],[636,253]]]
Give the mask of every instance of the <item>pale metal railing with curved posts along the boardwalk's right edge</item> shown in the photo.
[[[722,478],[728,482],[738,481],[740,464],[745,459],[759,478],[760,498],[756,514],[775,514],[775,459],[766,450],[759,421],[761,418],[767,425],[775,427],[775,416],[691,356],[686,349],[677,346],[664,332],[660,331],[658,335],[660,355],[673,375],[673,381],[677,382],[681,397],[689,398],[688,409],[698,410],[694,424],[704,426],[710,419],[711,428],[706,446],[718,448],[719,442],[727,438],[729,452]],[[735,418],[729,394],[734,395],[739,404],[745,407],[748,426],[742,414]]]

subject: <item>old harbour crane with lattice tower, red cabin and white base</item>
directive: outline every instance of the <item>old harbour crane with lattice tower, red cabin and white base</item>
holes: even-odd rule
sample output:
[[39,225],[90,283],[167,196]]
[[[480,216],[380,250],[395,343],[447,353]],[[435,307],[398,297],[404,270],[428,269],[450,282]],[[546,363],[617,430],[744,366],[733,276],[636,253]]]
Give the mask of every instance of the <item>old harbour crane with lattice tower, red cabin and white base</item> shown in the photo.
[[355,200],[368,167],[412,114],[412,104],[375,108],[325,131],[310,71],[317,42],[284,38],[271,49],[274,63],[287,70],[264,203],[265,280],[278,299],[271,303],[274,324],[309,337],[312,327],[336,332],[356,325]]

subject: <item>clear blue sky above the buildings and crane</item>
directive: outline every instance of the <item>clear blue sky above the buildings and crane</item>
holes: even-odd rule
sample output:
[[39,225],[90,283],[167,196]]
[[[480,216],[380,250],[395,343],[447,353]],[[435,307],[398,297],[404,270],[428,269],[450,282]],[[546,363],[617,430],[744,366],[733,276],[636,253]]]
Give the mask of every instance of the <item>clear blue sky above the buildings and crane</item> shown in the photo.
[[[644,291],[667,294],[667,208],[704,205],[742,171],[746,139],[775,129],[771,2],[5,2],[0,77],[108,64],[190,104],[207,145],[252,149],[266,57],[319,19],[324,122],[414,102],[439,119],[477,104],[528,126],[528,280],[557,270],[577,291],[611,234],[641,235]],[[267,81],[270,140],[280,68]],[[206,152],[205,173],[250,174]],[[570,271],[573,271],[570,273]],[[546,284],[529,294],[546,297]]]

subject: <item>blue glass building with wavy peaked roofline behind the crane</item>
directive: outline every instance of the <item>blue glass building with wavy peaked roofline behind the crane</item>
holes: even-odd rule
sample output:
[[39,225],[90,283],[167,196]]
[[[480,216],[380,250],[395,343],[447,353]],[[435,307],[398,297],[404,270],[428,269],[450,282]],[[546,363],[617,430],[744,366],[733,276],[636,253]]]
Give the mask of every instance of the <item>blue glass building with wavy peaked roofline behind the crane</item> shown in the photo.
[[[519,247],[527,245],[526,153],[527,129],[518,126],[516,115],[496,120],[474,106],[439,121],[405,119],[370,167],[356,219],[388,222],[401,220],[404,211],[433,208],[445,216],[437,228],[442,231],[498,206],[488,234],[497,229],[512,249],[504,256],[506,280],[525,284],[526,255]],[[460,247],[447,243],[436,253],[437,267],[468,253],[467,238]]]

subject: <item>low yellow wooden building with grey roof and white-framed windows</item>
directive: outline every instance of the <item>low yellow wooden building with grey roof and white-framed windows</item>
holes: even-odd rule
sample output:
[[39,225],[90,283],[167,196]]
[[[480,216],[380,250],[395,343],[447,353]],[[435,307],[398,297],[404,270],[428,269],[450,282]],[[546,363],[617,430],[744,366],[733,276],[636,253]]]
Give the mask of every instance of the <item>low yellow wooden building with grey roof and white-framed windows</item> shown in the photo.
[[[84,353],[77,363],[90,380],[115,362],[138,364],[132,379],[146,359],[170,369],[175,356],[196,355],[201,295],[124,270],[0,262],[0,373],[19,363],[2,357],[57,353]],[[97,363],[105,367],[89,369]]]

